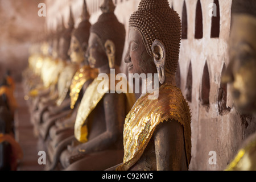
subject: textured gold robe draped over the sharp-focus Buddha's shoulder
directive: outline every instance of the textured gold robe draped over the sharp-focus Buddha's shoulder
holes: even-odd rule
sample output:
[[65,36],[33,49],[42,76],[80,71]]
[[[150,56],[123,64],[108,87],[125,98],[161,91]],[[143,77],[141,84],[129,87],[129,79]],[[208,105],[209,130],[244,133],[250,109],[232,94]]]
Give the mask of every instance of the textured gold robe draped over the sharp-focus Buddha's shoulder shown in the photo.
[[123,131],[124,158],[117,171],[127,171],[141,158],[156,126],[168,119],[178,121],[184,129],[187,164],[191,161],[191,113],[181,90],[164,84],[159,88],[159,97],[149,100],[150,94],[137,100],[125,119]]

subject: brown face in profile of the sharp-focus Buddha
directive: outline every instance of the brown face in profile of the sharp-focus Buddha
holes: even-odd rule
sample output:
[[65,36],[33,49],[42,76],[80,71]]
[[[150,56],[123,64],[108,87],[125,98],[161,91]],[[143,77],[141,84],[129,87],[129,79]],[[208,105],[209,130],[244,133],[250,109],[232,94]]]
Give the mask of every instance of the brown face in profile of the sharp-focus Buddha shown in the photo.
[[125,56],[129,73],[157,73],[153,58],[147,53],[141,33],[130,27],[128,49]]

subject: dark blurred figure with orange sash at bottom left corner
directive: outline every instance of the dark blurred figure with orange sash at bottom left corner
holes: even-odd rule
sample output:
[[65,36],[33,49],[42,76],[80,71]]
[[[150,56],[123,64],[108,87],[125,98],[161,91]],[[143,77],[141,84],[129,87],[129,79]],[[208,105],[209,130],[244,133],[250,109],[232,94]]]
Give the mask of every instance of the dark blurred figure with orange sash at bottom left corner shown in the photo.
[[23,157],[22,148],[14,138],[13,127],[10,111],[0,105],[0,171],[16,171]]

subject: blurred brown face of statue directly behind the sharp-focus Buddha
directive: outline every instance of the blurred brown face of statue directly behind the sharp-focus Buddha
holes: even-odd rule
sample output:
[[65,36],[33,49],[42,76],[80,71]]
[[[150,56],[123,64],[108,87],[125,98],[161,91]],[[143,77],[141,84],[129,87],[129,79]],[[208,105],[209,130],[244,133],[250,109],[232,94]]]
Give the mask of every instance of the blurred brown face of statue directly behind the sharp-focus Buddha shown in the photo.
[[88,49],[85,55],[91,68],[100,68],[109,64],[104,45],[100,38],[93,32],[90,33]]

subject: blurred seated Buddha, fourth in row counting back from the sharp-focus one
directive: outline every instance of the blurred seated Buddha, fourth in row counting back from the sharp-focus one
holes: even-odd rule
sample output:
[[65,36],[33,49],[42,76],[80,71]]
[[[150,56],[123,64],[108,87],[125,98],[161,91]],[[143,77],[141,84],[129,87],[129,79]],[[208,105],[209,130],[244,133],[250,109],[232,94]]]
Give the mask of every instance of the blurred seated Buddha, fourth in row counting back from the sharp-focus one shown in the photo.
[[[77,68],[76,65],[70,63],[68,55],[68,49],[71,43],[71,32],[74,28],[74,24],[72,11],[70,10],[68,27],[64,29],[59,39],[58,58],[52,61],[52,63],[49,60],[49,68],[48,66],[45,67],[45,72],[48,72],[48,76],[50,78],[46,78],[46,80],[48,81],[48,85],[51,86],[52,92],[48,96],[41,98],[38,104],[38,111],[35,114],[35,125],[42,139],[45,139],[49,125],[52,125],[56,119],[66,117],[69,114],[68,109],[70,100],[67,97],[67,100],[63,102],[64,99],[61,94],[63,94],[63,92],[67,92],[65,90],[66,85],[70,83],[70,78],[72,78],[73,73]],[[50,71],[51,69],[53,71]],[[44,73],[42,75],[44,75]],[[61,100],[60,103],[59,99]]]

